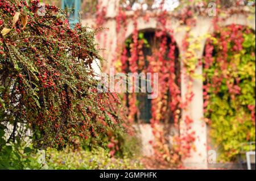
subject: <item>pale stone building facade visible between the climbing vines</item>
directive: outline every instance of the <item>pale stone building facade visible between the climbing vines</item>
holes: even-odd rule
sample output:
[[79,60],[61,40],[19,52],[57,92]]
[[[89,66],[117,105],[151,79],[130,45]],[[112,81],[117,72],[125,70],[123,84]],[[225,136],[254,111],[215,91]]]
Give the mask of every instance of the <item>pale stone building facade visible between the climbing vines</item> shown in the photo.
[[[77,12],[81,11],[79,9],[80,2],[78,3],[76,0],[72,1],[73,6],[76,7],[75,15],[72,22],[76,22],[78,20]],[[70,3],[70,2],[69,2]],[[68,4],[66,0],[63,1],[63,7],[65,5],[72,6]],[[104,71],[108,71],[110,68],[114,67],[114,60],[117,59],[117,50],[119,47],[123,47],[125,41],[133,34],[134,31],[134,11],[123,11],[126,16],[125,25],[121,28],[118,28],[119,23],[117,21],[120,16],[119,11],[119,1],[118,0],[101,0],[98,1],[96,16],[82,16],[81,22],[82,26],[97,28],[97,27],[105,27],[108,28],[99,35],[97,35],[97,40],[99,43],[99,48],[104,48],[105,50],[101,51],[102,57],[106,60],[106,66]],[[150,14],[151,12],[148,12]],[[157,14],[158,12],[154,12]],[[153,12],[152,12],[153,14]],[[183,40],[187,33],[187,26],[180,23],[179,18],[176,18],[171,15],[167,18],[166,28],[168,30],[173,30],[172,37],[175,39],[177,49],[179,50],[179,58],[181,60],[186,58],[186,51],[183,49]],[[99,19],[99,15],[101,15],[102,19]],[[122,14],[123,16],[123,14]],[[121,21],[123,19],[121,18]],[[145,20],[144,15],[138,15],[136,17],[137,22],[137,30],[138,31],[154,31],[161,28],[159,26],[158,16],[150,16],[147,20]],[[122,22],[121,22],[122,23]],[[248,15],[245,13],[233,13],[228,17],[224,17],[221,21],[221,26],[229,26],[230,24],[240,24],[242,26],[250,27],[255,30],[255,14]],[[196,50],[196,58],[200,59],[204,56],[204,45],[207,41],[207,35],[214,31],[214,16],[201,16],[198,15],[196,18],[195,26],[191,27],[190,30],[190,41],[197,41],[199,44]],[[181,65],[182,61],[181,61]],[[196,68],[196,73],[199,75],[203,75],[203,66],[198,66]],[[181,77],[181,98],[185,99],[185,92],[187,91],[187,86],[185,83],[185,75],[180,74]],[[194,96],[191,104],[187,109],[183,110],[181,113],[181,123],[180,128],[183,127],[185,115],[189,115],[194,121],[191,125],[192,131],[195,131],[196,140],[194,142],[196,149],[192,152],[191,157],[187,158],[184,163],[187,167],[200,167],[207,169],[208,165],[208,128],[207,123],[204,121],[204,99],[203,99],[203,79],[195,78],[193,79],[192,90],[194,92]],[[150,124],[141,124],[141,137],[143,143],[143,154],[151,155],[153,154],[153,150],[151,145],[148,142],[154,139],[152,135],[152,128]],[[182,129],[181,129],[182,131]]]

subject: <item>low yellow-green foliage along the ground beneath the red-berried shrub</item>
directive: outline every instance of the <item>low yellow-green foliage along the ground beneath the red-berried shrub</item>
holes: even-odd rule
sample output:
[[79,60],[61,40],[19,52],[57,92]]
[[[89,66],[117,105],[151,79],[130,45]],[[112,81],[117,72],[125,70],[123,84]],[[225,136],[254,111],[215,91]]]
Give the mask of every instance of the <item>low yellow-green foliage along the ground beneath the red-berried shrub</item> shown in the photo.
[[121,148],[122,151],[117,154],[118,156],[113,157],[107,146],[106,148],[95,145],[85,146],[86,150],[66,148],[62,151],[56,149],[39,151],[32,149],[32,145],[28,147],[26,142],[7,144],[4,129],[0,127],[0,169],[142,169],[138,155],[134,155],[136,150],[132,150],[137,143],[134,142],[135,137],[130,137],[133,141],[127,140],[127,144],[122,142],[125,148]]

